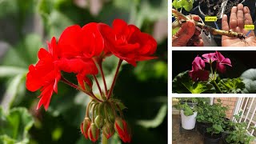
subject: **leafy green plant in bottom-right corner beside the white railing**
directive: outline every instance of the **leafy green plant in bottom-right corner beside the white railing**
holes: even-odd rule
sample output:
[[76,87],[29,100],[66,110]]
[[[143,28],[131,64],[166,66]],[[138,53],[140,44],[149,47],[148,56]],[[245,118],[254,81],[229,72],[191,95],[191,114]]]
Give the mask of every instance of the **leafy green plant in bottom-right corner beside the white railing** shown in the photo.
[[[229,134],[226,134],[223,138],[224,143],[234,143],[234,144],[249,144],[255,140],[253,135],[250,135],[247,131],[246,122],[238,122],[241,116],[234,115],[236,121],[231,122],[230,126],[234,126],[234,130],[230,130]],[[250,126],[250,130],[256,130],[254,126]]]

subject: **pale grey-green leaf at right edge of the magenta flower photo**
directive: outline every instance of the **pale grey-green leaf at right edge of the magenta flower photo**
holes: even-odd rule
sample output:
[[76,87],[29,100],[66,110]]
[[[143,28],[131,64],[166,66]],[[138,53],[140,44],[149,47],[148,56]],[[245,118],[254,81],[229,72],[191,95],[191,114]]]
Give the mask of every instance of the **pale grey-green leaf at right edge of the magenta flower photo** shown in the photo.
[[256,69],[249,69],[242,73],[240,76],[242,82],[245,83],[245,89],[242,93],[256,93]]

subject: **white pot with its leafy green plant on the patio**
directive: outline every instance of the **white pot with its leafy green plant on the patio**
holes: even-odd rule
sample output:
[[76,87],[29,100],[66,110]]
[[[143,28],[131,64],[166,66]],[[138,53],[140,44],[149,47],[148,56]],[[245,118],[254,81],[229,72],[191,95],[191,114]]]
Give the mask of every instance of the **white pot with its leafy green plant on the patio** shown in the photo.
[[182,127],[186,130],[194,129],[198,114],[197,103],[197,98],[178,98],[178,104],[174,105],[176,109],[181,110]]

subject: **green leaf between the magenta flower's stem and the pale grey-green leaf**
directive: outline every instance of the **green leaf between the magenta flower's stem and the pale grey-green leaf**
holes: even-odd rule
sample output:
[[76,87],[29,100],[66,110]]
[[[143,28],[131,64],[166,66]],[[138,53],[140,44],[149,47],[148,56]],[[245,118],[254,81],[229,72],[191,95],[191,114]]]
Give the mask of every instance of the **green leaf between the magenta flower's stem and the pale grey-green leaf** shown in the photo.
[[245,88],[245,84],[242,82],[241,78],[224,78],[220,82],[218,82],[218,86],[223,93],[233,94],[240,94]]

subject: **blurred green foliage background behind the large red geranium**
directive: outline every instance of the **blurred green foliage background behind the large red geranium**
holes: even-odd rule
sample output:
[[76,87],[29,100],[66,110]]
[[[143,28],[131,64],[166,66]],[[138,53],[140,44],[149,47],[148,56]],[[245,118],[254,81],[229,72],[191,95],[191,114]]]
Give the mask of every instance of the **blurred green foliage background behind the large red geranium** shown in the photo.
[[[39,92],[26,90],[26,73],[39,48],[66,26],[110,25],[114,18],[158,42],[158,58],[136,67],[123,63],[114,88],[114,97],[128,107],[131,143],[167,143],[166,0],[0,0],[0,143],[92,143],[79,128],[90,98],[59,82],[49,109],[36,110]],[[103,63],[109,87],[117,62],[110,57]],[[76,83],[74,75],[66,77]],[[117,134],[109,142],[122,143]]]

